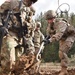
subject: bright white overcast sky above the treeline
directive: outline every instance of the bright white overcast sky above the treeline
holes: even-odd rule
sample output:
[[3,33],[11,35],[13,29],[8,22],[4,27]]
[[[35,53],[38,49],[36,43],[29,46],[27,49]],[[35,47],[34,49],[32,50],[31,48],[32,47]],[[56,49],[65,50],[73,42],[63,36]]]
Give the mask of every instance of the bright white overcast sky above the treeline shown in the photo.
[[[33,4],[35,10],[36,10],[36,15],[40,14],[40,12],[46,12],[47,10],[54,10],[56,11],[58,8],[58,2],[59,5],[62,3],[67,3],[70,5],[70,11],[69,12],[74,12],[75,11],[75,0],[38,0],[35,4]],[[60,7],[62,10],[68,10],[69,7],[68,5],[64,4]]]

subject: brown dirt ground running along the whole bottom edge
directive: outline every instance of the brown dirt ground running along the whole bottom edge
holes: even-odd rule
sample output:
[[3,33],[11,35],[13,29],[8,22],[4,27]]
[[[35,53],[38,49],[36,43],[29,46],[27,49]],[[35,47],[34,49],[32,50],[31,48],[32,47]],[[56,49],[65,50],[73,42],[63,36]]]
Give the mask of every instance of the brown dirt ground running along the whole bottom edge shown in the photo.
[[[60,65],[57,63],[42,63],[39,68],[38,74],[29,74],[28,72],[20,73],[21,70],[17,71],[18,73],[9,74],[9,75],[59,75],[60,73]],[[20,74],[19,74],[20,73]],[[5,73],[1,73],[0,75],[8,75]],[[69,66],[68,67],[68,75],[75,75],[75,67]]]

